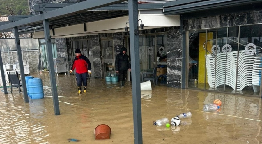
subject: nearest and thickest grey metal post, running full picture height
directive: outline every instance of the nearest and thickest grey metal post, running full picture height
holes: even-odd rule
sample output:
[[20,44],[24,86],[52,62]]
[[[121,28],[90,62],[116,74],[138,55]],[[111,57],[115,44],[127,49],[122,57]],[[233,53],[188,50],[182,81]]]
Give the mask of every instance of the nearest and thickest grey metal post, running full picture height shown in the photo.
[[130,54],[132,72],[132,99],[134,118],[134,143],[142,144],[141,87],[139,64],[138,1],[128,0],[130,26]]

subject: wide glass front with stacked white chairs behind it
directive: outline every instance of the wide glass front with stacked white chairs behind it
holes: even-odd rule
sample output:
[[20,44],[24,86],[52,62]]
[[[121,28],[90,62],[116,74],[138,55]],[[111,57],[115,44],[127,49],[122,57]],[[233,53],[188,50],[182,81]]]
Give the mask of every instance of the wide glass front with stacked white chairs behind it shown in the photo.
[[259,95],[261,27],[258,24],[189,31],[188,87]]

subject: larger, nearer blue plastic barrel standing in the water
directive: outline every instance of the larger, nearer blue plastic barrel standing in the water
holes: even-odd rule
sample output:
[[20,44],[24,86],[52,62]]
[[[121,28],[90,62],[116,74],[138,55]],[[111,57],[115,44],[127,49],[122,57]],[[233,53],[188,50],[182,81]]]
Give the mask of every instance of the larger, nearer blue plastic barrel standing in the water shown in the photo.
[[44,98],[44,89],[43,82],[41,78],[31,78],[28,79],[29,87],[29,97],[31,99],[43,99]]

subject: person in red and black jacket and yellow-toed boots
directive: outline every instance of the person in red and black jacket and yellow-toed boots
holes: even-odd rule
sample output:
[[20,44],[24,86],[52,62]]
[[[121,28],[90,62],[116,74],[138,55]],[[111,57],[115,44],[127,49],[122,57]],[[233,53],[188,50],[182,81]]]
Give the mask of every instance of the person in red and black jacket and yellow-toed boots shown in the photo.
[[75,76],[77,79],[78,93],[82,93],[82,82],[84,93],[86,93],[88,73],[91,74],[91,63],[86,56],[81,54],[80,49],[75,49],[75,55],[73,66],[69,72],[72,73],[72,71],[76,69]]

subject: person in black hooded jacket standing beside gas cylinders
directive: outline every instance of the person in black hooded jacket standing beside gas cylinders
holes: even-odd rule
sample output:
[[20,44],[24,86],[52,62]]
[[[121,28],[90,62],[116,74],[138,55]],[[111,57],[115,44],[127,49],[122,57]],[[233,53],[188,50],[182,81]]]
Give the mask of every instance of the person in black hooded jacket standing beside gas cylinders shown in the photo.
[[119,82],[120,87],[125,86],[125,78],[127,74],[127,70],[131,72],[131,65],[128,60],[128,55],[126,54],[127,49],[122,47],[120,53],[116,55],[116,73],[119,73]]

